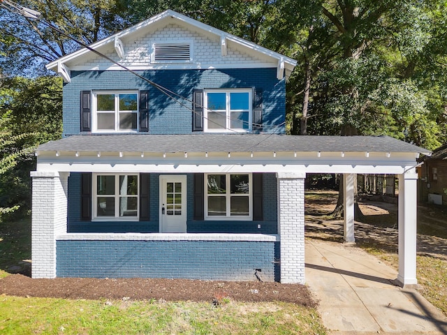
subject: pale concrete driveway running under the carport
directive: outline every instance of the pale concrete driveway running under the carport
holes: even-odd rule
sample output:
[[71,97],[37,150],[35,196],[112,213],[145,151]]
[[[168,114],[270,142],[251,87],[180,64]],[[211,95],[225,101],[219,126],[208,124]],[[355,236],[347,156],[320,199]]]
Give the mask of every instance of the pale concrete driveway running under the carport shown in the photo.
[[330,334],[447,334],[447,318],[356,246],[306,239],[306,283]]

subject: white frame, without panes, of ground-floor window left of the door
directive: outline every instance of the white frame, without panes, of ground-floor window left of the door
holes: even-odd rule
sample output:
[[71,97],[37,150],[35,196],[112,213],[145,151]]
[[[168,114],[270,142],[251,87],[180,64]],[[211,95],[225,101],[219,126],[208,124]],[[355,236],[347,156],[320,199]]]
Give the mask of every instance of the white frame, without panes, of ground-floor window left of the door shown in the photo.
[[[98,176],[115,176],[115,194],[114,195],[98,195]],[[119,198],[122,195],[119,194],[119,177],[120,176],[136,176],[138,185],[137,185],[137,194],[136,195],[125,195],[130,198],[137,198],[137,215],[136,216],[119,216]],[[92,184],[92,192],[91,192],[91,221],[139,221],[140,220],[140,174],[138,173],[101,173],[95,172],[92,175],[93,182]],[[115,198],[115,215],[114,216],[98,216],[97,213],[97,204],[98,197],[105,198]]]

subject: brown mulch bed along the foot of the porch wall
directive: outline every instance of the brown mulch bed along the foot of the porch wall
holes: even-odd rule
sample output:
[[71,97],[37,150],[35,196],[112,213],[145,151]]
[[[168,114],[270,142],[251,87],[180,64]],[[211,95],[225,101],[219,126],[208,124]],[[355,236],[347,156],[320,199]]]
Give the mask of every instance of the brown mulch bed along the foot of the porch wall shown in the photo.
[[261,302],[284,301],[315,307],[305,285],[256,281],[196,281],[161,278],[54,278],[33,279],[10,274],[0,279],[0,295],[64,299],[131,299],[156,301],[209,301],[221,299]]

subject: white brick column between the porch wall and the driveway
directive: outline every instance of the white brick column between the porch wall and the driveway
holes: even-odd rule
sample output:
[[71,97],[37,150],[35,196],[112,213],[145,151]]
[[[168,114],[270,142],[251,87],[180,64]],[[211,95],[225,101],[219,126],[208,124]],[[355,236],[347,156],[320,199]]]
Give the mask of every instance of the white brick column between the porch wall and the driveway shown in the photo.
[[305,177],[277,173],[281,283],[305,283]]

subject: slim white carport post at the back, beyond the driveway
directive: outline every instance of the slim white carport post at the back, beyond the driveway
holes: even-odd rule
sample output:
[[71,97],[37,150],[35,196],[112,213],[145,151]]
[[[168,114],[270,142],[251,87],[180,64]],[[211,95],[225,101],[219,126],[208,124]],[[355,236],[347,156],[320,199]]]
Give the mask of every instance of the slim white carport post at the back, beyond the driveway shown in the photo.
[[344,207],[344,229],[343,238],[345,242],[353,243],[354,237],[354,178],[356,174],[343,174],[343,207]]

